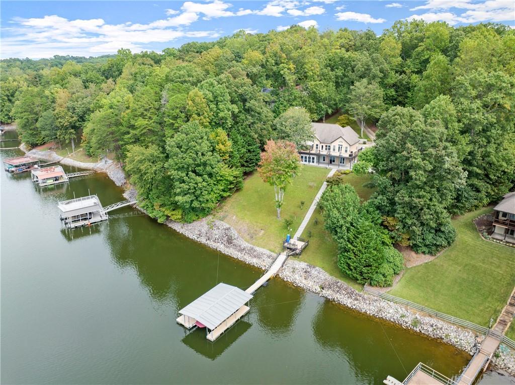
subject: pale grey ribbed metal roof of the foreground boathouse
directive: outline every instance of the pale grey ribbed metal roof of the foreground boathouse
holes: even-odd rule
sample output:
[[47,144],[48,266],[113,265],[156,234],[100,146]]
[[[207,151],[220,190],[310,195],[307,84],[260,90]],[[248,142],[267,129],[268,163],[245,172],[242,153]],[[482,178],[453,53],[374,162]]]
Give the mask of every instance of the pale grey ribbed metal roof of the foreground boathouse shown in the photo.
[[251,298],[251,294],[235,286],[218,284],[179,310],[179,314],[192,317],[213,330]]

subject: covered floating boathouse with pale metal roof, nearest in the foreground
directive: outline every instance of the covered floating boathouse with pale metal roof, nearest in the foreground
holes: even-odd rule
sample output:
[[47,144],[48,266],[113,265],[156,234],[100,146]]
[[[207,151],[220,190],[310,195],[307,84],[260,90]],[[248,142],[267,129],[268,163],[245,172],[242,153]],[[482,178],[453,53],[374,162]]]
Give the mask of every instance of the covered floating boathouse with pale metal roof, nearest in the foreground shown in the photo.
[[205,338],[214,341],[250,310],[251,298],[240,288],[220,283],[179,310],[177,322],[187,329],[205,327]]

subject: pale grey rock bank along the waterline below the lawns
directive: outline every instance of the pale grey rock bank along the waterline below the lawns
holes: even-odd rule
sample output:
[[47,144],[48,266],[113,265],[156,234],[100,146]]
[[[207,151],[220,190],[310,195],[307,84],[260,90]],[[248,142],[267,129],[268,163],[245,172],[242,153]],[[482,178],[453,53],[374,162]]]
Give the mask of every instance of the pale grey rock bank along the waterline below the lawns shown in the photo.
[[[204,218],[193,223],[167,220],[165,224],[188,238],[263,270],[268,269],[276,258],[274,253],[247,243],[230,225],[219,220]],[[405,329],[414,330],[469,354],[472,353],[475,334],[471,330],[430,317],[403,305],[360,293],[316,266],[289,258],[278,274],[284,281],[319,294],[335,303],[396,323]],[[500,348],[492,363],[499,369],[515,375],[515,352],[510,349]]]

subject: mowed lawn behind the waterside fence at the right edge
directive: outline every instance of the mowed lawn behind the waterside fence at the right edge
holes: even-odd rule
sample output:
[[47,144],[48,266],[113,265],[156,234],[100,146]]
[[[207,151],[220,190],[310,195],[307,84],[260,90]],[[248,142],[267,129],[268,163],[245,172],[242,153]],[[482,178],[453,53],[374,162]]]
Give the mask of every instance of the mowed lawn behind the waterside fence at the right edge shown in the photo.
[[515,249],[480,238],[472,220],[489,212],[486,207],[453,219],[458,236],[451,247],[407,269],[389,294],[479,325],[495,321],[515,285]]

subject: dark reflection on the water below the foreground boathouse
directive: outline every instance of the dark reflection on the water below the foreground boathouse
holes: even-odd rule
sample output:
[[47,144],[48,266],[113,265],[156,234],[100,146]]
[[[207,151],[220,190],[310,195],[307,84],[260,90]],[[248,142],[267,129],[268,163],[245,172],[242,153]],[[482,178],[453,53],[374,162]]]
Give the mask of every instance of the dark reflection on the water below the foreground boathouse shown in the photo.
[[186,335],[181,342],[201,356],[215,360],[252,326],[245,318],[248,318],[248,316],[236,322],[234,326],[218,337],[215,342],[205,338],[205,330],[203,329],[193,331],[184,329]]

